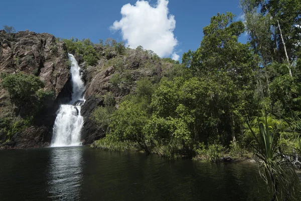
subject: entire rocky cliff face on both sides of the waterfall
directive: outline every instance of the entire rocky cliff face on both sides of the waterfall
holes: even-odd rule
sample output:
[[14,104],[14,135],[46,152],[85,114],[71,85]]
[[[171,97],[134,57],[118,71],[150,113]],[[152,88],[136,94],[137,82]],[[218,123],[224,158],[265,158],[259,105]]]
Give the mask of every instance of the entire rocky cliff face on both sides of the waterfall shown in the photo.
[[[87,65],[83,55],[74,54],[86,84],[86,102],[81,108],[84,117],[83,144],[90,144],[105,135],[95,124],[91,114],[98,106],[104,105],[103,99],[108,92],[114,95],[118,107],[124,96],[134,93],[135,82],[139,78],[148,77],[158,82],[164,74],[160,61],[147,51],[127,49],[126,53],[119,54],[113,47],[96,46],[94,49],[98,55],[96,66]],[[72,93],[70,62],[65,43],[45,33],[26,31],[7,34],[0,31],[0,53],[0,73],[23,72],[36,75],[44,81],[44,90],[53,91],[55,94],[55,100],[35,120],[34,125],[15,133],[8,142],[4,143],[5,136],[0,128],[0,148],[48,146],[56,111],[60,104],[70,101]],[[9,93],[0,86],[0,120],[6,117],[18,119],[20,115]]]

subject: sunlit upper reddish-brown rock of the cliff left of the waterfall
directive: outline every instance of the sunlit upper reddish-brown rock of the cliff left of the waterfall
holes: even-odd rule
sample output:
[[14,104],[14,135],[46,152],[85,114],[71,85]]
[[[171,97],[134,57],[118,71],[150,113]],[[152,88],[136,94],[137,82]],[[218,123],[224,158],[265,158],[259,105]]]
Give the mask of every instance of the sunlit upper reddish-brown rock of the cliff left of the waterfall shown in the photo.
[[34,74],[45,83],[46,90],[53,90],[57,97],[70,77],[68,54],[63,42],[56,42],[50,34],[0,32],[2,54],[1,72]]

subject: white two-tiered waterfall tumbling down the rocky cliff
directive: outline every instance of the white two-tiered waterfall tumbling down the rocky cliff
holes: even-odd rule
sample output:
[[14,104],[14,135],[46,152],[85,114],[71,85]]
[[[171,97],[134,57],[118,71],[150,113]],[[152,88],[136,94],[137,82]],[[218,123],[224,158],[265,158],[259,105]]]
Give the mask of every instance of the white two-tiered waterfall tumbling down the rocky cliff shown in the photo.
[[81,145],[80,132],[84,119],[80,114],[80,108],[85,102],[83,97],[85,86],[76,59],[71,54],[68,54],[68,57],[71,61],[72,99],[69,104],[61,105],[57,112],[53,126],[52,147]]

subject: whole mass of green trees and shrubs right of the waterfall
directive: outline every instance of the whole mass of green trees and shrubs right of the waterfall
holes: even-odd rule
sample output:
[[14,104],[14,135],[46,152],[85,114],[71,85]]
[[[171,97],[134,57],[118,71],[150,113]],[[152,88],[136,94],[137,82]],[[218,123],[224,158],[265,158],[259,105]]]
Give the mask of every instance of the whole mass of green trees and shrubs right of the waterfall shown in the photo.
[[[293,126],[287,117],[301,111],[301,50],[296,45],[301,36],[296,25],[301,18],[291,3],[300,7],[295,0],[242,0],[245,24],[235,22],[232,13],[213,16],[203,29],[199,48],[184,53],[182,64],[170,58],[161,59],[141,46],[125,49],[123,44],[108,39],[103,48],[108,60],[105,67],[113,66],[118,72],[110,82],[130,95],[121,100],[110,117],[111,130],[102,146],[117,142],[138,144],[146,152],[169,158],[198,156],[217,161],[223,153],[243,158],[245,150],[263,146],[262,142],[273,136],[269,138],[273,145],[266,150],[273,154],[291,153],[299,140],[295,131],[288,129]],[[284,42],[287,41],[288,61],[279,27]],[[238,38],[245,31],[249,42],[242,44]],[[111,54],[113,51],[117,56]],[[137,73],[143,70],[153,73],[153,77],[136,81]],[[106,107],[99,109],[104,116]],[[270,113],[266,119],[257,117],[261,109]],[[252,130],[246,124],[248,119]],[[264,128],[267,122],[266,135],[256,121]],[[126,148],[121,144],[116,147]],[[278,159],[275,157],[275,161]],[[278,167],[285,161],[282,158],[272,164],[269,160],[266,159],[267,166]],[[287,161],[283,163],[286,165]],[[285,169],[282,173],[289,176],[285,165],[281,166]],[[264,165],[261,167],[264,169]],[[267,171],[265,175],[270,174]],[[279,187],[282,181],[277,182]]]

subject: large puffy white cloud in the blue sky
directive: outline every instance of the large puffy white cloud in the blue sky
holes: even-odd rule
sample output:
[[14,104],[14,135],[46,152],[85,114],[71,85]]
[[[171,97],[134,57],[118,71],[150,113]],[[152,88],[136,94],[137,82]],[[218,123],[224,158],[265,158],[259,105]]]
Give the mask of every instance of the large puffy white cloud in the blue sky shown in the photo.
[[120,30],[126,45],[131,48],[140,45],[160,57],[171,56],[178,40],[173,33],[175,16],[169,15],[168,3],[168,0],[158,0],[155,7],[143,0],[137,1],[134,6],[126,4],[121,8],[121,20],[115,21],[110,28]]

